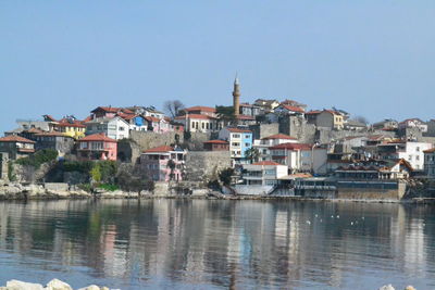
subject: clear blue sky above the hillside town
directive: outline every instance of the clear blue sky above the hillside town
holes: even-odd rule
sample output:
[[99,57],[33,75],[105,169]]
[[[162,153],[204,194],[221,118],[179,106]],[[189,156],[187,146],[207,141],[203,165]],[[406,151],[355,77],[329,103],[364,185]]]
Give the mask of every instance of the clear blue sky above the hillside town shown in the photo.
[[98,105],[291,98],[435,117],[435,1],[0,1],[0,130]]

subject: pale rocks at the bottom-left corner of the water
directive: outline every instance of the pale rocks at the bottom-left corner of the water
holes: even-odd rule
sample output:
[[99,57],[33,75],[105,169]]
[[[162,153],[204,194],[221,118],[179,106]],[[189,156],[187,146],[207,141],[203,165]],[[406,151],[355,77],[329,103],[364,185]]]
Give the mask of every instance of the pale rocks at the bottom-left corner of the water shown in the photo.
[[[10,280],[7,282],[7,286],[0,287],[0,290],[73,290],[73,288],[70,285],[58,279],[52,279],[47,283],[46,287],[40,283]],[[88,287],[79,288],[77,290],[109,290],[109,288],[100,288],[96,285],[90,285]]]

